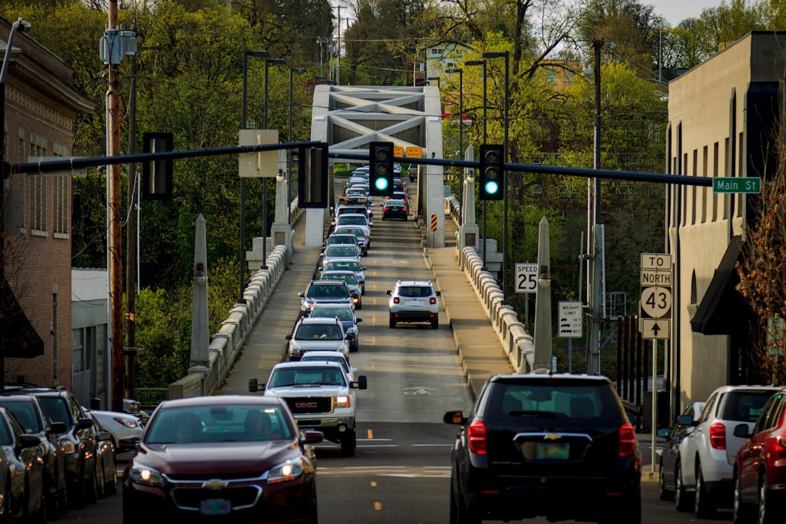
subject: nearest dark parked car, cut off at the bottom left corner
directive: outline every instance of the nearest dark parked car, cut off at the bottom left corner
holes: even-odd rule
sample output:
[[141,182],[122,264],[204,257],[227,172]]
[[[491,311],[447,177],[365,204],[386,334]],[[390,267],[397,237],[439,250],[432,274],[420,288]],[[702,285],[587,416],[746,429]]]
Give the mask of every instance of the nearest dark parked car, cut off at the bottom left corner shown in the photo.
[[0,408],[0,447],[8,460],[4,517],[12,522],[17,518],[46,522],[44,446],[40,438],[25,433],[6,408]]

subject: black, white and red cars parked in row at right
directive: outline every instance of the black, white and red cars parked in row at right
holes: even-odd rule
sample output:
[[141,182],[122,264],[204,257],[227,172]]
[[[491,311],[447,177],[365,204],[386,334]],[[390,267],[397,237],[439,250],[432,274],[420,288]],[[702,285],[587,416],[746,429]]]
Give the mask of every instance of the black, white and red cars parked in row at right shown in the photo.
[[669,431],[659,461],[659,495],[678,511],[733,521],[782,522],[786,489],[786,389],[723,386],[695,402]]

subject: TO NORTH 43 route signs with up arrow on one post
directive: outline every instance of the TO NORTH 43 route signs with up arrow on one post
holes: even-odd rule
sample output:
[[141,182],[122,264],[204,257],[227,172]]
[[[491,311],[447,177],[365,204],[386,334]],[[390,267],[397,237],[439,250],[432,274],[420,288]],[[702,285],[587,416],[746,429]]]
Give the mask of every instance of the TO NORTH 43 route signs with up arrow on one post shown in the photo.
[[668,339],[671,332],[671,255],[641,254],[639,332],[643,339]]

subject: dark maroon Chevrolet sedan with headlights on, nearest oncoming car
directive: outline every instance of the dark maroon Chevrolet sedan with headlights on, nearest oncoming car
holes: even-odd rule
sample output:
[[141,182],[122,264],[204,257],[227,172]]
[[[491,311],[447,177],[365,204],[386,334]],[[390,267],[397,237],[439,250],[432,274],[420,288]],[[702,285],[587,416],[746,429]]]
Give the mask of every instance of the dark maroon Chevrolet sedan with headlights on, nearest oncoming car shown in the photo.
[[317,522],[322,439],[278,398],[164,401],[123,472],[123,523]]

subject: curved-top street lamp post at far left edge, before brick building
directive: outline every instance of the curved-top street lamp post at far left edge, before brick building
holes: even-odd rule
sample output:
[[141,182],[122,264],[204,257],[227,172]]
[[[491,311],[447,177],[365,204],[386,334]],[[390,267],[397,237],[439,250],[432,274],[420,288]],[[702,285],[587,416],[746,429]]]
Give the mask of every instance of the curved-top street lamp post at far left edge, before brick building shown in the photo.
[[[0,125],[6,122],[6,74],[8,73],[8,63],[11,59],[11,46],[13,46],[13,36],[17,31],[27,31],[30,29],[30,24],[25,20],[19,18],[16,22],[11,24],[11,31],[8,35],[8,42],[6,43],[6,54],[2,59],[2,69],[0,69]],[[2,311],[9,310],[6,296],[6,240],[3,237],[3,232],[6,229],[6,223],[3,217],[2,202],[3,191],[6,185],[6,178],[9,176],[9,164],[6,162],[6,132],[0,127],[0,308]],[[0,315],[2,317],[2,315]],[[0,329],[0,386],[6,383],[6,335],[9,335],[9,328],[4,326]]]

